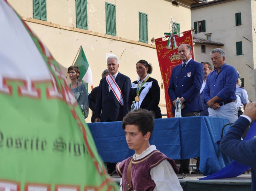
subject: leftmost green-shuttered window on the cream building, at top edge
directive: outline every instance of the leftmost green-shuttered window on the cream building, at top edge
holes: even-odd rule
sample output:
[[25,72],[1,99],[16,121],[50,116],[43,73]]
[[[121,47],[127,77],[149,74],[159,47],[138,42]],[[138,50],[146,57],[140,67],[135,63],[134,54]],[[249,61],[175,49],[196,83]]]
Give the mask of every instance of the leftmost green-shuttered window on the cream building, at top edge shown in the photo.
[[47,20],[46,0],[33,0],[33,18]]

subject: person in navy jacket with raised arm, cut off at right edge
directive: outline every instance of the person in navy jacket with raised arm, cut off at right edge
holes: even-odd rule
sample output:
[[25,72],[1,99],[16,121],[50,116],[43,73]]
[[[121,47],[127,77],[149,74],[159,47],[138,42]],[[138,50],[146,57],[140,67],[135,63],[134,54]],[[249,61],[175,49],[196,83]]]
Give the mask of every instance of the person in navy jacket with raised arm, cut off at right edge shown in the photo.
[[[241,141],[241,137],[256,119],[256,102],[248,103],[243,115],[229,128],[228,132],[220,142],[220,150],[237,162],[250,166],[251,190],[256,190],[256,138],[249,141]],[[254,128],[253,126],[251,128]]]

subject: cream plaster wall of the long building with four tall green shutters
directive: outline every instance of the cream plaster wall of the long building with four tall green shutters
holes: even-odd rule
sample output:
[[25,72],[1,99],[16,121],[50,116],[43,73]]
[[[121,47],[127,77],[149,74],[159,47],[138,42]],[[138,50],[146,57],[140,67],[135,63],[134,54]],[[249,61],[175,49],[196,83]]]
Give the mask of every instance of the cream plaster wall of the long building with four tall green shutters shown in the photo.
[[[80,47],[83,46],[89,65],[92,69],[93,86],[98,86],[101,73],[106,66],[106,53],[116,54],[120,58],[119,71],[137,80],[136,62],[145,59],[153,65],[151,77],[158,80],[161,87],[155,45],[151,38],[164,36],[169,32],[170,16],[180,23],[180,30],[191,29],[190,3],[178,1],[179,7],[171,5],[169,0],[108,0],[116,5],[117,37],[105,35],[105,1],[88,0],[88,31],[72,31],[76,26],[75,0],[47,1],[47,22],[29,19],[33,17],[32,0],[8,0],[16,9],[39,39],[48,47],[55,59],[61,64],[63,73],[72,65],[73,59]],[[139,40],[139,11],[148,14],[148,44]],[[180,14],[182,12],[183,14]],[[90,32],[91,31],[91,32]],[[122,38],[123,40],[119,40]],[[117,40],[118,39],[118,40]],[[67,79],[68,80],[68,79]],[[69,81],[69,80],[68,80]],[[89,89],[90,92],[90,89]],[[161,89],[160,107],[166,114],[164,89]],[[90,122],[89,113],[86,122]]]

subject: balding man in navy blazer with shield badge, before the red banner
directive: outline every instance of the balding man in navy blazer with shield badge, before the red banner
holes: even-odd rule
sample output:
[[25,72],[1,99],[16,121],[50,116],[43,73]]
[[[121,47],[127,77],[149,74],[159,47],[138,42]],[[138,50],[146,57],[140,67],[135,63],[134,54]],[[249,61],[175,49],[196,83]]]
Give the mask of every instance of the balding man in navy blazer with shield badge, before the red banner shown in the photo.
[[[192,47],[189,44],[180,44],[178,54],[182,63],[173,68],[170,77],[168,93],[173,103],[173,114],[177,97],[182,103],[181,116],[199,116],[203,110],[200,89],[204,79],[203,65],[192,59]],[[189,174],[189,159],[181,160],[180,174]]]

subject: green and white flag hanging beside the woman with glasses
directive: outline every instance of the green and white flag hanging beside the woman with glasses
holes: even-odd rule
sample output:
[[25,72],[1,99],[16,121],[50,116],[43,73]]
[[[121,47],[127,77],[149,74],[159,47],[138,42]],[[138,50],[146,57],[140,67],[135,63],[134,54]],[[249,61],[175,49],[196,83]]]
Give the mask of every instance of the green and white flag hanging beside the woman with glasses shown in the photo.
[[86,59],[82,46],[80,46],[79,54],[74,65],[80,68],[79,78],[85,81],[86,83],[89,83],[92,87],[92,70]]

